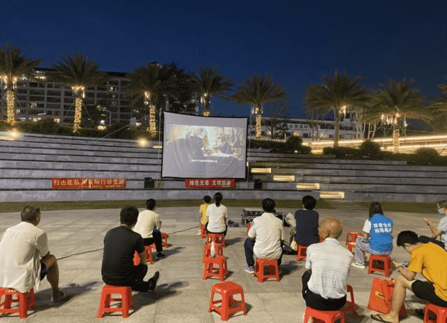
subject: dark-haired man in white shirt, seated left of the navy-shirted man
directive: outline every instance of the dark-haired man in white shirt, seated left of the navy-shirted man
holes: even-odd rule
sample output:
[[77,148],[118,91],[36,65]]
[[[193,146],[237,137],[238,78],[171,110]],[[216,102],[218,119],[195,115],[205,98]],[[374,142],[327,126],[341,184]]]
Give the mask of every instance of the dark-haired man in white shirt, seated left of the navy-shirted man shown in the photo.
[[272,214],[274,200],[263,200],[262,216],[254,218],[249,230],[249,237],[245,240],[245,258],[247,259],[247,273],[254,273],[254,258],[277,259],[281,264],[282,247],[284,241],[282,221]]

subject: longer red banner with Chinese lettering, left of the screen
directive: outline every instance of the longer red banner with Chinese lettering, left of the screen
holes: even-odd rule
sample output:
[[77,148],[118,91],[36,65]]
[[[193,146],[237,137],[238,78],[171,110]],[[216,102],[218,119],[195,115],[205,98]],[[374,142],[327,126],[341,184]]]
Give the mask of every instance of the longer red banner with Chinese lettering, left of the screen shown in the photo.
[[108,190],[126,188],[126,179],[84,179],[78,177],[54,177],[52,190]]

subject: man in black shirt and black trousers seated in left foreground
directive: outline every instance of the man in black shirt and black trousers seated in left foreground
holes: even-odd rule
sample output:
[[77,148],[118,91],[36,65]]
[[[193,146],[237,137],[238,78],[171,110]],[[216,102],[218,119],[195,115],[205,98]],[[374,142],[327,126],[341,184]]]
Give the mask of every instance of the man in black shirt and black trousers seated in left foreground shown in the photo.
[[[143,280],[147,273],[145,246],[140,234],[133,232],[137,223],[138,209],[125,206],[119,214],[121,225],[109,230],[104,237],[104,253],[101,275],[107,285],[130,286],[137,292],[155,290],[160,273],[155,272],[149,280]],[[140,264],[133,265],[135,251]]]

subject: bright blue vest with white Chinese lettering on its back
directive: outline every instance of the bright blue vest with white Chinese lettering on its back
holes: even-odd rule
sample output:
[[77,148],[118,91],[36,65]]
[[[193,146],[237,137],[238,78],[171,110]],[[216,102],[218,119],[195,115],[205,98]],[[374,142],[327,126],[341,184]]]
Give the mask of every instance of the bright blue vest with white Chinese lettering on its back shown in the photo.
[[369,218],[371,232],[369,232],[369,247],[383,253],[393,251],[393,220],[375,213]]

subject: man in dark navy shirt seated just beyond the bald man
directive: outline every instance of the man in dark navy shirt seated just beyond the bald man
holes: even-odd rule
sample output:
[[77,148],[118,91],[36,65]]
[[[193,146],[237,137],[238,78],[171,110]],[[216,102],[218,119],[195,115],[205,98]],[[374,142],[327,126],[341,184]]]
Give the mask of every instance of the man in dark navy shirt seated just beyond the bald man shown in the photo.
[[299,246],[310,246],[317,243],[318,238],[318,212],[314,211],[316,200],[311,195],[302,198],[304,209],[295,212],[296,234],[295,241]]

